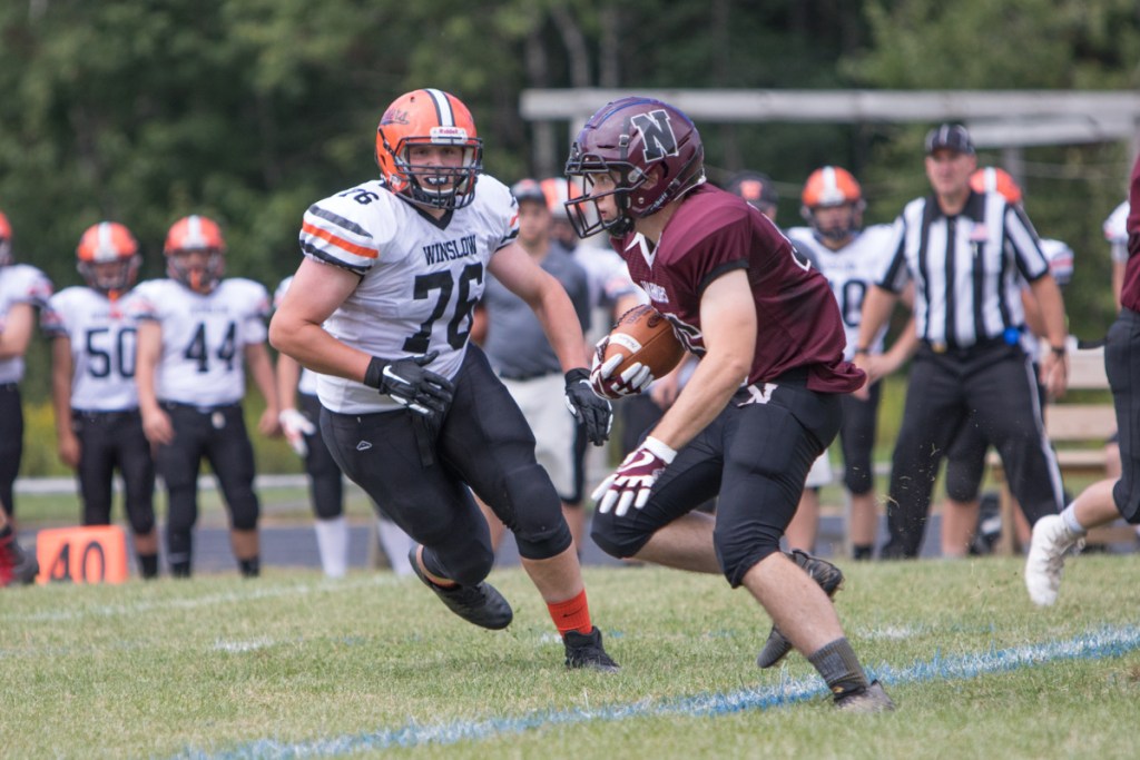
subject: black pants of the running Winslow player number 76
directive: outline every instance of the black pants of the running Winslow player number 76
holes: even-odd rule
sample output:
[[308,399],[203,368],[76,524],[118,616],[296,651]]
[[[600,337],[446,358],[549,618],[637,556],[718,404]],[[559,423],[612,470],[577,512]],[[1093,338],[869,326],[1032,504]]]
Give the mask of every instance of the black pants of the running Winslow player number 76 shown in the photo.
[[324,409],[321,433],[344,474],[408,536],[433,548],[448,578],[470,581],[463,555],[490,551],[487,521],[469,487],[515,533],[523,557],[560,554],[570,533],[559,495],[535,459],[522,411],[478,348],[469,346],[455,386],[438,430],[406,409]]

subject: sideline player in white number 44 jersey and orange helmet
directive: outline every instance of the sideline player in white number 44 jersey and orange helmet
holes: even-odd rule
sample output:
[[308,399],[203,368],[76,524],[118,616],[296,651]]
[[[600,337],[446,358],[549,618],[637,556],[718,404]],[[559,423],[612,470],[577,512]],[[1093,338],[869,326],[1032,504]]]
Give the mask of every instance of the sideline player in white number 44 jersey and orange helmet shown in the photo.
[[266,399],[258,430],[279,432],[277,389],[266,346],[269,293],[253,280],[222,278],[226,240],[205,216],[174,222],[163,247],[165,279],[135,288],[136,381],[142,430],[166,485],[166,561],[192,572],[198,469],[210,463],[230,517],[230,545],[245,577],[260,572],[253,447],[242,415],[245,368]]

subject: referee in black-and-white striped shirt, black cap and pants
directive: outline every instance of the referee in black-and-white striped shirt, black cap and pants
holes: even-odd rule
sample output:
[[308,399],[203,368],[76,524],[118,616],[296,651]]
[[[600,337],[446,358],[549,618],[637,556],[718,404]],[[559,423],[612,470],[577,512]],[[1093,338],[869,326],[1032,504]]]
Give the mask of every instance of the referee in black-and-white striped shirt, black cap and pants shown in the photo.
[[1020,288],[1028,283],[1052,346],[1041,359],[1041,382],[1051,397],[1064,393],[1060,288],[1025,212],[1000,193],[970,188],[976,166],[964,126],[930,131],[926,173],[934,194],[911,201],[895,220],[893,254],[863,304],[855,362],[873,378],[866,350],[903,288],[914,283],[920,343],[891,463],[885,559],[918,556],[938,465],[962,425],[976,426],[997,449],[1031,524],[1057,514],[1062,502],[1060,471],[1020,344]]

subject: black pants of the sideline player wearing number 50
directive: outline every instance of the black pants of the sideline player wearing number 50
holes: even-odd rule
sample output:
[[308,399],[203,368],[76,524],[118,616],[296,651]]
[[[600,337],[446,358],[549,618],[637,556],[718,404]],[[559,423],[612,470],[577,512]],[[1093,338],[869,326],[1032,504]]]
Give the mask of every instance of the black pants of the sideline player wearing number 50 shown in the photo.
[[154,461],[138,410],[73,411],[72,428],[80,442],[76,474],[83,524],[111,524],[112,481],[117,468],[131,531],[149,533],[154,529]]

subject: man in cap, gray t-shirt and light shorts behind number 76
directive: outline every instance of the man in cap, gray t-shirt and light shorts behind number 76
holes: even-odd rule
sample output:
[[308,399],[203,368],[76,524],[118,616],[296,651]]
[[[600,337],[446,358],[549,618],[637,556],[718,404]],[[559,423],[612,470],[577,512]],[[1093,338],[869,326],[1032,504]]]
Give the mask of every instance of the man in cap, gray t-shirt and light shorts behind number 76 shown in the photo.
[[[589,283],[571,253],[551,237],[551,211],[542,185],[523,179],[511,188],[519,206],[516,243],[531,261],[554,277],[570,296],[578,322],[589,328]],[[483,351],[535,434],[535,456],[554,482],[562,514],[580,555],[586,524],[581,481],[577,476],[575,442],[578,424],[557,399],[565,384],[557,354],[535,311],[492,275],[487,277],[482,309],[487,316]],[[486,505],[491,545],[498,546],[504,525]]]

